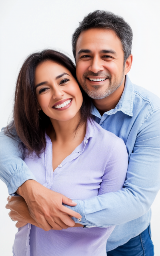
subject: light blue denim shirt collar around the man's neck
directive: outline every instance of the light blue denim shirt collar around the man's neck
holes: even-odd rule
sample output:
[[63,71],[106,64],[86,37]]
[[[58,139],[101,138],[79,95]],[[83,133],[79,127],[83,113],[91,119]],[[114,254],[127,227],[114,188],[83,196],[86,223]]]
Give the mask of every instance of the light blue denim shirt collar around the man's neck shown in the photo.
[[[133,100],[134,100],[134,85],[130,81],[128,75],[125,77],[125,86],[122,93],[122,96],[116,105],[115,109],[105,112],[103,115],[113,115],[118,111],[122,111],[124,114],[133,116]],[[99,111],[93,106],[92,115],[102,118]]]

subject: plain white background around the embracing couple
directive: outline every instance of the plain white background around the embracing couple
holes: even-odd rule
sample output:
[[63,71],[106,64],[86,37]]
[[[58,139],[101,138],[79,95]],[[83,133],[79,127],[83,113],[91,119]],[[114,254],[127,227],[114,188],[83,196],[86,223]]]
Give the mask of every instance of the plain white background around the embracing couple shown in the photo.
[[[71,37],[78,21],[97,9],[110,10],[130,24],[130,79],[160,96],[159,0],[0,0],[0,128],[12,112],[16,77],[25,57],[44,48],[72,56]],[[0,255],[11,256],[16,227],[5,209],[8,190],[2,181],[0,195]],[[152,205],[151,231],[155,256],[160,256],[160,193]]]

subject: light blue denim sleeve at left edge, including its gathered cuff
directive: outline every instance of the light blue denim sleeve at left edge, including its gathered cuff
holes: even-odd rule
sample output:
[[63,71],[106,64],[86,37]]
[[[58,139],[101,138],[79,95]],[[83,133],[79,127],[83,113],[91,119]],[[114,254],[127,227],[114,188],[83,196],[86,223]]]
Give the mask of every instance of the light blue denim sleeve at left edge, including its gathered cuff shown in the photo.
[[0,132],[0,179],[6,184],[10,195],[26,180],[36,180],[26,163],[22,160],[19,141]]

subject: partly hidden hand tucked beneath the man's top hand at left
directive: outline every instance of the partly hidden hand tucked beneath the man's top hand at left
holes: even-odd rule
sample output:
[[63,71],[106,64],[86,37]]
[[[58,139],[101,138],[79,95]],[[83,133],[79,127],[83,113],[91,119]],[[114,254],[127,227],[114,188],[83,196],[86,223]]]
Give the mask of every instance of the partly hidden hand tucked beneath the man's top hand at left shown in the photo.
[[39,227],[38,223],[30,216],[28,206],[23,197],[9,196],[7,201],[6,209],[10,209],[8,215],[13,221],[17,221],[16,227],[23,227],[27,223]]

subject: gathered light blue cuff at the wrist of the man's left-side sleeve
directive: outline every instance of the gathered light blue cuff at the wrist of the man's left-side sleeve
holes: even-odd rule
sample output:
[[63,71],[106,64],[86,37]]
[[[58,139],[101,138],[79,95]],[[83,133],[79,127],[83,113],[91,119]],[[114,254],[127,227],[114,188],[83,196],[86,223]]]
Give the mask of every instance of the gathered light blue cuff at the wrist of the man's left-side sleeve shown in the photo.
[[9,195],[16,195],[17,189],[26,181],[26,180],[36,180],[34,174],[28,169],[20,170],[14,172],[10,177],[10,180],[7,184]]

